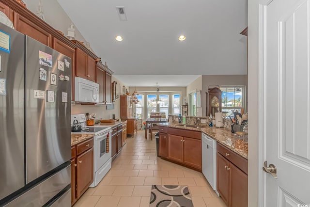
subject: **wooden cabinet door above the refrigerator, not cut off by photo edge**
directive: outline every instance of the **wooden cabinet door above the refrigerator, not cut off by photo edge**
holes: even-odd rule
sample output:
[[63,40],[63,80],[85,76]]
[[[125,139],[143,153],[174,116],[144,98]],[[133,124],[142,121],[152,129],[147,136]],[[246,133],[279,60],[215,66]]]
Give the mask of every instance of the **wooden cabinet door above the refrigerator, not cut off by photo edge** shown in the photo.
[[26,34],[50,48],[53,47],[52,35],[50,33],[17,13],[14,16],[14,27],[18,32]]

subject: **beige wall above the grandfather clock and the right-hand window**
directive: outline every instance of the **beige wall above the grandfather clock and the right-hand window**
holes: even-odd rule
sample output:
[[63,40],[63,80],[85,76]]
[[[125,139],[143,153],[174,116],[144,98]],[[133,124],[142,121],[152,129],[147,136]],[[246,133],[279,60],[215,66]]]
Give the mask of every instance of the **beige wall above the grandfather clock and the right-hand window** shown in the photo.
[[[202,116],[207,116],[207,95],[208,87],[218,86],[247,86],[247,75],[202,75]],[[210,88],[213,88],[211,86]]]

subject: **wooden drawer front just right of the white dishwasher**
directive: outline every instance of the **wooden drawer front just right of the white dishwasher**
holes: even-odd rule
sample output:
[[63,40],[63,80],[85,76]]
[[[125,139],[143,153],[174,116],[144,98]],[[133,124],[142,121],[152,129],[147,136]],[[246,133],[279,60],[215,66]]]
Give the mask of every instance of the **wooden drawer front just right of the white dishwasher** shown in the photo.
[[220,153],[224,158],[231,161],[235,166],[248,175],[248,160],[241,157],[237,153],[217,143],[217,152]]

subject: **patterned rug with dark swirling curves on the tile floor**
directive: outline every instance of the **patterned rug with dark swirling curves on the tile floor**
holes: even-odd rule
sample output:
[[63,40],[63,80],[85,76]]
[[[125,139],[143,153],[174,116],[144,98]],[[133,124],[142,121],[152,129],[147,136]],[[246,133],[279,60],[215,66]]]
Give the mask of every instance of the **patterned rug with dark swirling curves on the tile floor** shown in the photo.
[[152,185],[150,207],[194,207],[187,186]]

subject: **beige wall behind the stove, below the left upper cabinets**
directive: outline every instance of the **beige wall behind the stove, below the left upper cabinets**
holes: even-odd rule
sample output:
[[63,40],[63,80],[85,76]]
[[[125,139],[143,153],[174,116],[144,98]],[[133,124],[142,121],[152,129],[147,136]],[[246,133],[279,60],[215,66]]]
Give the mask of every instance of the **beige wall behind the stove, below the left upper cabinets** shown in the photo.
[[[117,92],[119,95],[122,95],[122,87],[124,85],[123,82],[120,80],[116,79],[112,75],[112,82],[113,81],[117,82]],[[77,114],[77,113],[96,113],[96,118],[103,118],[103,119],[111,119],[112,114],[115,114],[115,118],[120,118],[120,98],[116,99],[114,102],[114,109],[112,110],[107,110],[106,106],[87,106],[87,105],[72,105],[71,107],[71,113],[72,114]]]

